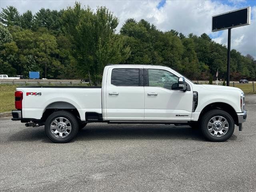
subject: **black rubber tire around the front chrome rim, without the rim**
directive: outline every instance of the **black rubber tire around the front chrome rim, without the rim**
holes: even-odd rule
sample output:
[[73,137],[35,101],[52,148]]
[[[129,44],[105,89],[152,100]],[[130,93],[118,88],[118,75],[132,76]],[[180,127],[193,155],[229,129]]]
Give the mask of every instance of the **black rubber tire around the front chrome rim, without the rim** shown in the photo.
[[[228,131],[226,132],[226,134],[222,135],[222,136],[213,136],[212,134],[210,134],[210,132],[208,131],[208,122],[210,121],[211,118],[215,117],[215,116],[222,116],[224,118],[226,118],[226,120],[228,121]],[[233,132],[234,132],[234,120],[232,118],[232,116],[230,116],[230,114],[228,114],[226,111],[224,110],[219,110],[219,109],[214,109],[214,110],[210,110],[209,112],[207,112],[206,114],[204,114],[202,116],[202,119],[200,121],[200,127],[202,130],[202,134],[211,141],[214,142],[222,142],[222,141],[226,141],[227,139],[229,139]]]

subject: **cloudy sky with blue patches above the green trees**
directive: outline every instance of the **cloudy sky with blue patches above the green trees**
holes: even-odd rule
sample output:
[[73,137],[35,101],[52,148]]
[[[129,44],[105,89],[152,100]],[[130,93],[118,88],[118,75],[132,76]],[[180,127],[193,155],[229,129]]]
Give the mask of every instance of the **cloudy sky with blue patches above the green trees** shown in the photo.
[[[106,6],[119,19],[117,32],[128,18],[137,21],[144,18],[162,31],[171,29],[184,35],[194,33],[200,36],[208,34],[212,40],[227,44],[228,30],[212,32],[212,16],[251,7],[251,24],[231,30],[231,49],[243,55],[250,54],[256,58],[256,0],[78,0],[82,6],[89,5],[93,10],[97,6]],[[20,13],[31,10],[36,13],[40,8],[60,10],[73,6],[74,0],[0,0],[0,7],[15,6]]]

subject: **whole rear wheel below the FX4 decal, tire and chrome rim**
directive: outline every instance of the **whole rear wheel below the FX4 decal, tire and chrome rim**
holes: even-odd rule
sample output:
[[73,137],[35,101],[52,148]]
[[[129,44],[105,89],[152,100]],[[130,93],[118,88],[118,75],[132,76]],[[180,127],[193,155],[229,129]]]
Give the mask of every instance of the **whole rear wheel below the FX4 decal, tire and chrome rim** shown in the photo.
[[52,113],[45,122],[44,130],[50,140],[66,143],[78,133],[79,125],[75,116],[68,111]]

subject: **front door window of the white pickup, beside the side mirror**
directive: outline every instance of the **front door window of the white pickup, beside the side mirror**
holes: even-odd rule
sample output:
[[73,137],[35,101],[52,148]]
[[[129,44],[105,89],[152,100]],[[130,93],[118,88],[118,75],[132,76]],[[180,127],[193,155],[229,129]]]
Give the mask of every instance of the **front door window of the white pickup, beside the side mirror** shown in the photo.
[[149,86],[176,90],[178,77],[166,70],[148,69],[148,83]]

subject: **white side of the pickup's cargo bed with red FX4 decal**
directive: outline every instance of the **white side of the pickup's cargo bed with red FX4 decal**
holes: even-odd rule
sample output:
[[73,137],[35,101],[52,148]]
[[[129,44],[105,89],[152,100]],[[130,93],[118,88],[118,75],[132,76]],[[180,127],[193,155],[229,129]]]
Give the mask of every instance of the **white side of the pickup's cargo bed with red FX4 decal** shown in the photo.
[[100,86],[27,86],[23,92],[22,118],[40,119],[47,108],[70,106],[76,108],[81,120],[85,112],[102,113]]

